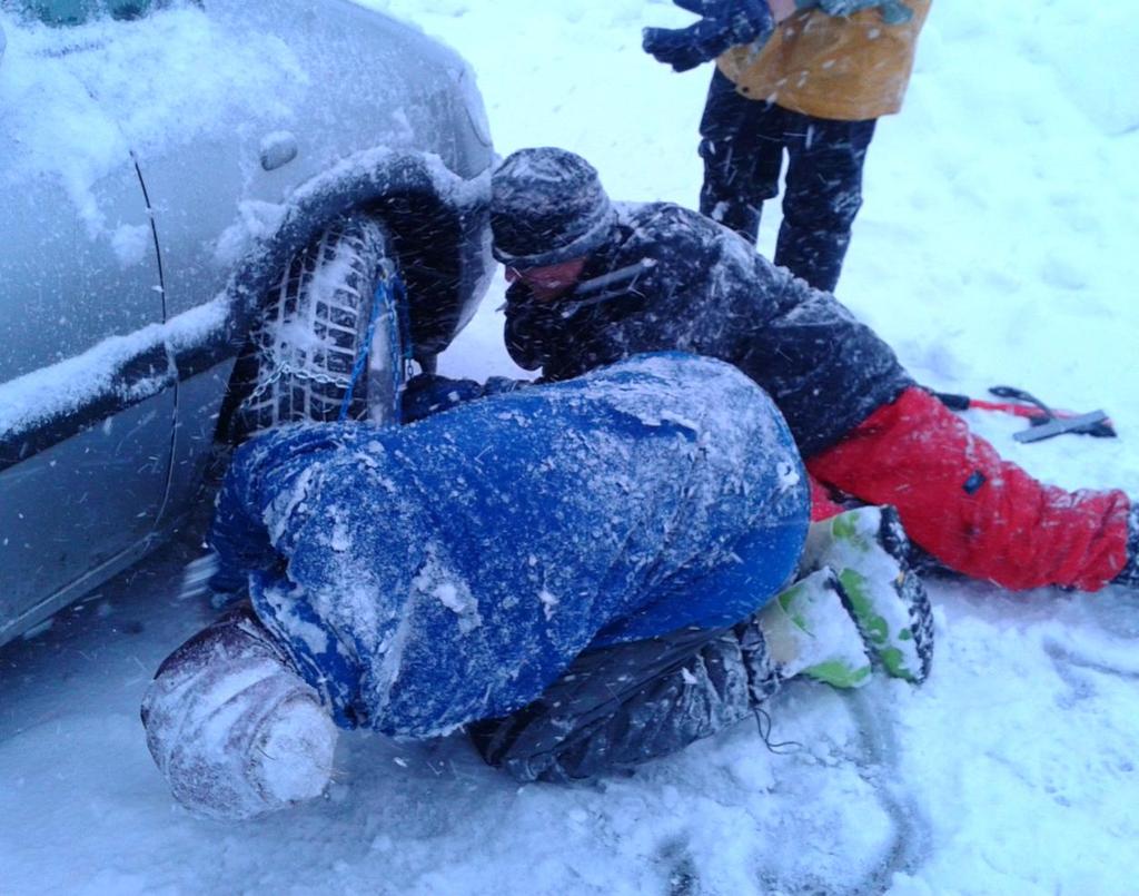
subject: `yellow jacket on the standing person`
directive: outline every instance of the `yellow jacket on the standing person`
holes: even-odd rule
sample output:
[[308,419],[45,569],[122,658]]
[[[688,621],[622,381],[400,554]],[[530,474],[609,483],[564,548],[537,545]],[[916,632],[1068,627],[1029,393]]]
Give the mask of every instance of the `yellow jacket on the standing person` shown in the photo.
[[804,115],[890,115],[902,107],[931,2],[907,0],[913,17],[901,25],[883,23],[876,8],[847,17],[804,9],[784,19],[759,54],[734,47],[716,65],[741,95]]

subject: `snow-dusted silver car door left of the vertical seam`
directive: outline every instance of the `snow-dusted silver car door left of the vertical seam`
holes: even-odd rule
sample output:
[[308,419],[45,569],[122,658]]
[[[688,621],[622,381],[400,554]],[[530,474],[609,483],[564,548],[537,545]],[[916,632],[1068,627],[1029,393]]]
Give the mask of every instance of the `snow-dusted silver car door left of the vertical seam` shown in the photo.
[[113,32],[0,25],[3,643],[146,544],[170,474],[175,377],[145,192],[83,76]]

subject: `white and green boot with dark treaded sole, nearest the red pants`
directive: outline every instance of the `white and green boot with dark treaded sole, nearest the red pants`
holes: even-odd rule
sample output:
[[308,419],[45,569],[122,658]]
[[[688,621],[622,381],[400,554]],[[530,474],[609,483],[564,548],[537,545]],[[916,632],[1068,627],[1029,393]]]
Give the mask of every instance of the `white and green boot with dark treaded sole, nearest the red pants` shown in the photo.
[[838,575],[844,603],[886,671],[924,682],[933,662],[933,611],[910,567],[898,511],[858,507],[812,523],[802,569],[822,567]]

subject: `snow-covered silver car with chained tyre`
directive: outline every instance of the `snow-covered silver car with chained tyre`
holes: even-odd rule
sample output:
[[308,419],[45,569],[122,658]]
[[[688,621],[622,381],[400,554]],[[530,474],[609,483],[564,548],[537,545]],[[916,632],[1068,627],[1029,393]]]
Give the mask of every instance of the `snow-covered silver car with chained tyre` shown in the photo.
[[492,156],[467,65],[346,0],[0,0],[0,644],[215,446],[390,418],[482,298]]

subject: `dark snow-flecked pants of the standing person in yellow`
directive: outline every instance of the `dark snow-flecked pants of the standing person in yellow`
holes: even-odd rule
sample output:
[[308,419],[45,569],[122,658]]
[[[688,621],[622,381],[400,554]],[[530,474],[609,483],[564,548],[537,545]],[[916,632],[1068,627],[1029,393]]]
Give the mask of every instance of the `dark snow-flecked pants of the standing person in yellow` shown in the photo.
[[763,203],[779,194],[786,149],[775,263],[834,292],[862,205],[862,165],[875,123],[817,119],[748,99],[718,68],[700,120],[700,212],[754,244]]

